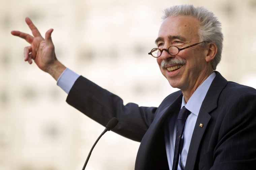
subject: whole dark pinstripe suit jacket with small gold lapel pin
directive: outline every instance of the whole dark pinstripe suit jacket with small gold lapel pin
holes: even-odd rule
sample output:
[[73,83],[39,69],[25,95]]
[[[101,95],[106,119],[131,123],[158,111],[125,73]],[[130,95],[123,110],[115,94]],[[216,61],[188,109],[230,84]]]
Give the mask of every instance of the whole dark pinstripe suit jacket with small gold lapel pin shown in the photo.
[[[256,90],[216,74],[199,111],[185,169],[256,169]],[[169,168],[163,124],[168,115],[178,114],[181,101],[178,91],[158,108],[123,105],[118,96],[82,76],[67,97],[67,103],[104,126],[117,117],[113,131],[141,142],[136,170]]]

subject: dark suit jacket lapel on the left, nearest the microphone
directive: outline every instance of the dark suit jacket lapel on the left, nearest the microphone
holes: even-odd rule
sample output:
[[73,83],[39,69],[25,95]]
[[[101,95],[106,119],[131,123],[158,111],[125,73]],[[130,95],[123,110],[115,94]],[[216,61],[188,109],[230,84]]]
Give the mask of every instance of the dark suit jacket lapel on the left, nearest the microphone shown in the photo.
[[136,170],[169,169],[164,141],[164,122],[168,115],[176,113],[177,108],[180,109],[181,100],[182,93],[177,92],[177,95],[173,98],[167,97],[159,106],[160,112],[156,114],[141,140],[136,157]]

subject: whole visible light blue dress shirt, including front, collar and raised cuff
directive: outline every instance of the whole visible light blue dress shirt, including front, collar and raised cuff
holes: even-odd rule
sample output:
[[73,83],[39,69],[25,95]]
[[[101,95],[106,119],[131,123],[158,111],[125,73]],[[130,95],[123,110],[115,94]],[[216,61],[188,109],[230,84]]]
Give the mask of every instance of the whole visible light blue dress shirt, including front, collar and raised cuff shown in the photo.
[[[191,114],[188,116],[188,119],[185,124],[185,129],[183,133],[184,137],[184,147],[180,157],[178,170],[185,169],[186,160],[188,156],[188,150],[190,146],[190,141],[192,138],[192,133],[194,131],[196,119],[201,108],[202,102],[205,98],[207,91],[209,90],[211,83],[216,76],[215,73],[212,73],[204,82],[196,89],[193,95],[190,97],[188,103],[185,102],[184,97],[182,98],[182,106],[185,106]],[[57,80],[57,85],[64,90],[67,94],[75,83],[76,79],[79,77],[78,74],[72,70],[66,68],[59,79]],[[175,116],[175,118],[173,118]],[[172,169],[173,155],[174,155],[174,145],[176,137],[176,119],[178,115],[171,115],[169,119],[169,124],[166,124],[164,133],[165,133],[165,148],[167,153],[167,159],[170,169]],[[198,125],[199,126],[199,125]]]

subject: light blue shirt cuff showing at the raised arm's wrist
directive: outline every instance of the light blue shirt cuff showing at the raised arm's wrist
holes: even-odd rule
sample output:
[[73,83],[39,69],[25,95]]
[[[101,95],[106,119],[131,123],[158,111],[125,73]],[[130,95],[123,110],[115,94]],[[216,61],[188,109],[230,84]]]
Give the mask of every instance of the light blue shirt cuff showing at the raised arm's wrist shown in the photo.
[[72,70],[66,68],[57,80],[57,86],[68,94],[79,76],[80,75],[76,74]]

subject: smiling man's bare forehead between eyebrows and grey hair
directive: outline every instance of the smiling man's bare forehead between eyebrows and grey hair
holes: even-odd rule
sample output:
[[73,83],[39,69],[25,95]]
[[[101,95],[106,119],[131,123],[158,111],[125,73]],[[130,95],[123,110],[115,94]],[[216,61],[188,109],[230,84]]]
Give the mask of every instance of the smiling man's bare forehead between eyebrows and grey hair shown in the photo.
[[160,26],[158,38],[180,37],[184,41],[199,41],[199,26],[199,21],[192,16],[167,17]]

